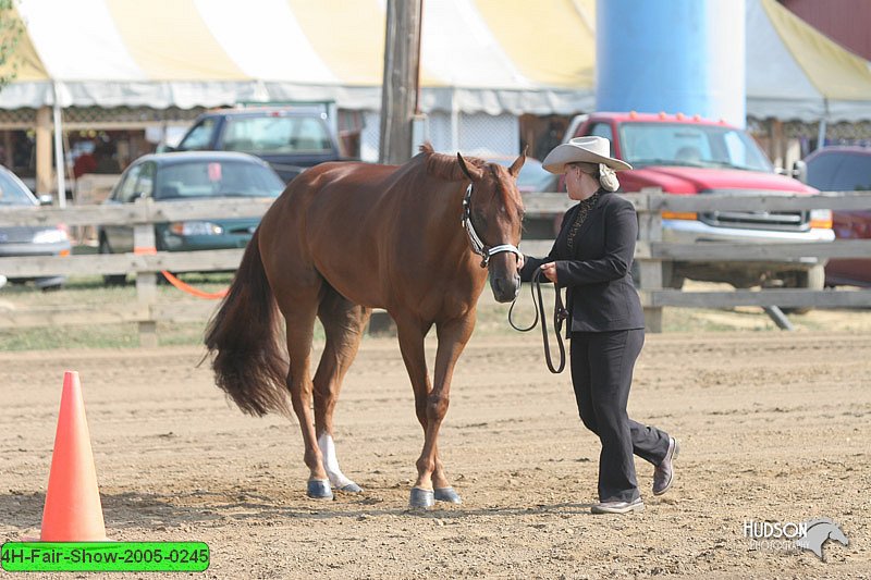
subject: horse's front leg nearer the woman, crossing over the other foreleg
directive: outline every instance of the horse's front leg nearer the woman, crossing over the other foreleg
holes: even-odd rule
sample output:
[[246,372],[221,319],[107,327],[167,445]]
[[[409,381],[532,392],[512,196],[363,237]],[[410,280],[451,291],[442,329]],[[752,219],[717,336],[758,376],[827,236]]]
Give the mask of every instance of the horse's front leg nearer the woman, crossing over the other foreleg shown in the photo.
[[[475,312],[437,323],[439,346],[436,354],[436,375],[432,391],[426,399],[424,449],[417,460],[417,481],[412,490],[413,507],[430,507],[434,499],[459,503],[459,496],[447,483],[439,459],[438,440],[451,400],[451,379],[454,367],[475,329]],[[434,480],[434,481],[433,481]],[[437,484],[433,490],[433,482]],[[438,497],[437,497],[438,495]]]

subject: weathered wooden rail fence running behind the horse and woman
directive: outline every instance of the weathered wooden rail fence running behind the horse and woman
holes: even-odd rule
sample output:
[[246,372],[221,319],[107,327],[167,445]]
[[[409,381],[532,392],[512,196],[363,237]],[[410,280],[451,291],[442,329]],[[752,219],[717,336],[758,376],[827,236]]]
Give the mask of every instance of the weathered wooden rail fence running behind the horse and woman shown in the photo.
[[[732,292],[686,292],[662,288],[663,264],[671,261],[784,261],[803,257],[871,258],[871,239],[835,240],[809,244],[673,244],[662,242],[663,211],[785,211],[785,210],[859,210],[871,207],[871,192],[825,193],[813,196],[756,196],[715,194],[673,196],[662,193],[629,194],[639,215],[639,240],[636,260],[640,266],[639,293],[645,306],[646,323],[650,331],[662,329],[662,308],[727,308],[735,306],[781,307],[871,307],[871,291],[810,289],[737,289]],[[528,220],[553,220],[572,206],[565,194],[526,194]],[[269,200],[152,202],[146,200],[125,206],[79,206],[66,209],[24,208],[0,212],[0,226],[54,225],[96,226],[101,224],[130,225],[134,229],[134,245],[155,247],[154,224],[160,222],[259,217]],[[529,255],[543,256],[552,239],[526,239],[522,249]],[[70,257],[0,258],[0,273],[8,277],[48,275],[122,274],[136,275],[137,299],[131,305],[69,305],[44,309],[0,310],[0,329],[136,322],[140,344],[157,344],[157,323],[160,321],[204,321],[214,309],[214,303],[187,300],[159,304],[157,273],[206,272],[235,270],[242,258],[241,249],[164,252],[89,255]]]

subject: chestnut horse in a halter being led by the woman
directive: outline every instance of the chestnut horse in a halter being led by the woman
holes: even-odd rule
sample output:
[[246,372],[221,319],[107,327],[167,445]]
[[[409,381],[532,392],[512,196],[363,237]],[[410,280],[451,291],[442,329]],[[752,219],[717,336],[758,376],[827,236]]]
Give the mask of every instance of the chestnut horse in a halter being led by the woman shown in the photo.
[[[404,165],[323,163],[291,182],[263,215],[206,346],[218,386],[243,411],[290,415],[290,391],[309,496],[332,497],[331,485],[361,491],[339,467],[333,409],[371,310],[383,308],[396,323],[425,433],[410,504],[459,503],[439,458],[439,428],[488,271],[500,303],[519,291],[523,200],[515,180],[525,161],[524,153],[504,168],[424,145]],[[312,380],[316,317],[326,344]],[[433,324],[431,384],[424,338]]]

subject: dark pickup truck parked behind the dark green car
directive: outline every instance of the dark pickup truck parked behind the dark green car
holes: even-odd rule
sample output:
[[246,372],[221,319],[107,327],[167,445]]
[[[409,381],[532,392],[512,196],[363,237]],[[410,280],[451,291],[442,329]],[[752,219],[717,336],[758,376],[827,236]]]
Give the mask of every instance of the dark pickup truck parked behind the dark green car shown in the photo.
[[326,113],[289,107],[209,111],[173,150],[250,153],[272,165],[285,183],[307,168],[341,159]]

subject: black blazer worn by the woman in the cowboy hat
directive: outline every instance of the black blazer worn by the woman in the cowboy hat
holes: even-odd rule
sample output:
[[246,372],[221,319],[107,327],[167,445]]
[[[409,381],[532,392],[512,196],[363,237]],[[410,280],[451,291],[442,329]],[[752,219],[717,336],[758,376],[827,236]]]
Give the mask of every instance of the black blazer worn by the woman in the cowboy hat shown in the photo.
[[[520,271],[524,282],[547,262],[556,262],[556,280],[566,287],[572,332],[608,332],[645,328],[641,300],[633,285],[631,266],[638,219],[633,205],[622,197],[599,192],[596,206],[568,249],[568,230],[579,206],[563,219],[560,235],[545,258],[528,258]],[[547,282],[543,276],[541,280]]]

